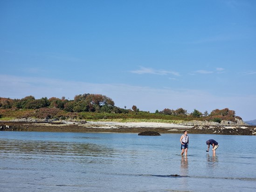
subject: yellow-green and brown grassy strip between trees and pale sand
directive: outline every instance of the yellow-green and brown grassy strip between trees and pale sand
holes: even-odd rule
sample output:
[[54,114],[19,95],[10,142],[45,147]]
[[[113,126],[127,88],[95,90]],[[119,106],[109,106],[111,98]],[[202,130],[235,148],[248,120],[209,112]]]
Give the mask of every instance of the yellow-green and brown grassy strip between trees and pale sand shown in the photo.
[[0,121],[9,121],[16,118],[56,118],[60,120],[85,121],[113,121],[113,122],[155,122],[155,123],[181,123],[192,120],[204,121],[207,117],[193,117],[191,115],[165,115],[145,111],[129,113],[97,113],[97,112],[66,112],[55,108],[41,108],[37,110],[0,109]]

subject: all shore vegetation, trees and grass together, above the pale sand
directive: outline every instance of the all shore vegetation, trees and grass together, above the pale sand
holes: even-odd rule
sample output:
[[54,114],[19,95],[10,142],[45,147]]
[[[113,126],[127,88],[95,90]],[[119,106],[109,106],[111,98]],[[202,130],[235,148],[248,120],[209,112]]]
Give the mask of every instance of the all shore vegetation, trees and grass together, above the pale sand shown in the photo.
[[221,120],[235,121],[234,110],[224,108],[216,109],[208,113],[194,109],[192,113],[179,108],[156,110],[154,113],[140,111],[133,105],[131,109],[119,108],[114,101],[100,94],[76,95],[73,100],[65,97],[42,97],[35,99],[34,96],[26,96],[22,99],[10,99],[0,97],[0,120],[9,121],[16,118],[39,118],[39,119],[76,119],[87,121],[115,121],[115,122],[159,122],[181,123],[183,121],[213,121],[220,123]]

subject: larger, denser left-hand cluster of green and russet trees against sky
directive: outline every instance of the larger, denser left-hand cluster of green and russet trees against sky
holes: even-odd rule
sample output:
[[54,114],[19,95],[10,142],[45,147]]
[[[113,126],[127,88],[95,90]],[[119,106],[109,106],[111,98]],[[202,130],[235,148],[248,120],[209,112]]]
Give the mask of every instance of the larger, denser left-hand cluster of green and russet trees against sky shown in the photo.
[[100,94],[83,94],[76,95],[74,100],[68,100],[64,96],[42,97],[35,99],[34,96],[26,96],[22,99],[6,99],[0,98],[0,109],[40,109],[40,108],[55,108],[68,112],[113,112],[122,113],[121,108],[115,106],[114,101]]

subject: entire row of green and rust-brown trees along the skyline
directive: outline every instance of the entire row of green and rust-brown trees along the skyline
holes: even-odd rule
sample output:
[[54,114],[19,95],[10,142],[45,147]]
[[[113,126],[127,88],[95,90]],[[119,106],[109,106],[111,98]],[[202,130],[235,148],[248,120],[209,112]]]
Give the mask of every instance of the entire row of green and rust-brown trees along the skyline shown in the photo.
[[[138,113],[139,109],[133,105],[131,109],[126,110],[115,106],[114,101],[107,96],[101,94],[81,94],[76,95],[73,100],[68,100],[64,96],[62,98],[56,97],[42,97],[35,99],[34,96],[26,96],[22,99],[10,99],[0,97],[0,109],[41,109],[53,108],[64,110],[67,112],[97,112],[97,113]],[[149,112],[148,112],[149,113]],[[234,118],[242,119],[235,116],[234,110],[228,108],[213,110],[210,114],[208,111],[202,113],[194,109],[192,113],[187,113],[187,110],[179,108],[177,110],[164,109],[162,111],[156,110],[155,113],[171,116],[193,116],[193,117],[211,117],[213,121],[220,122],[221,120],[234,120]]]

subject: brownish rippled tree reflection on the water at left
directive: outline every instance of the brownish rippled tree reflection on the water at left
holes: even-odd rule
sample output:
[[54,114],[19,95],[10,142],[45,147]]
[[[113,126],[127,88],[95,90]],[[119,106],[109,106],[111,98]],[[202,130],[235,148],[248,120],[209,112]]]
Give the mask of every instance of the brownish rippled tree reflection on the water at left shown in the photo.
[[54,141],[26,141],[26,140],[1,140],[0,153],[15,153],[25,155],[47,155],[53,157],[111,157],[116,151],[113,149],[90,143],[54,142]]

